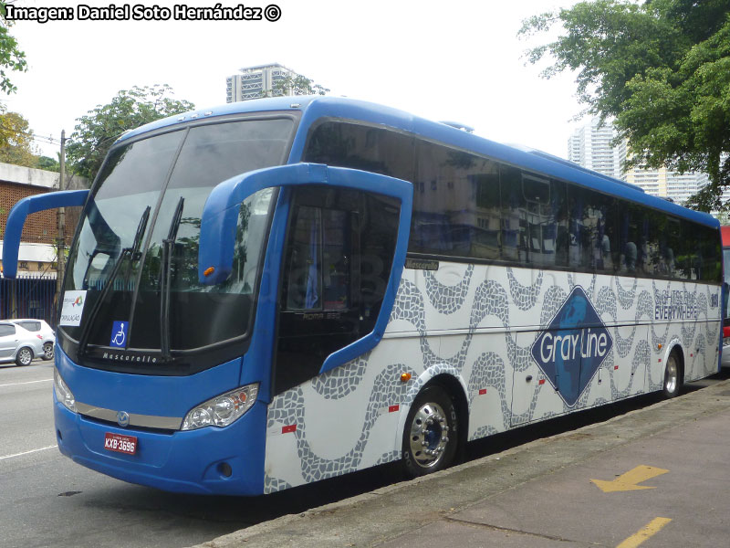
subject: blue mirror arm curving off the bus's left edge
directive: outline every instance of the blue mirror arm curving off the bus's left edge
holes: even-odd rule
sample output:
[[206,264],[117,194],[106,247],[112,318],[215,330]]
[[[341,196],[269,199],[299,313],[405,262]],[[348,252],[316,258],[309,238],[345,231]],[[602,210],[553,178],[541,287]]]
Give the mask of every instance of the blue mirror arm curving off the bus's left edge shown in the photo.
[[84,205],[88,197],[88,190],[63,190],[28,196],[14,205],[10,210],[10,215],[7,216],[3,238],[3,274],[5,278],[15,279],[17,276],[17,253],[27,216],[46,209]]

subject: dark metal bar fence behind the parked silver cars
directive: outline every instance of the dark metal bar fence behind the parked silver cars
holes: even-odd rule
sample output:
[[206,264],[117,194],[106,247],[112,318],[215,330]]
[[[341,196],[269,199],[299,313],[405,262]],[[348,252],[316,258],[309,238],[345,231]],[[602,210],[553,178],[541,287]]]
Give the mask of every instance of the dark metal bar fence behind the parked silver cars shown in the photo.
[[56,323],[56,274],[29,274],[0,279],[0,320],[36,318]]

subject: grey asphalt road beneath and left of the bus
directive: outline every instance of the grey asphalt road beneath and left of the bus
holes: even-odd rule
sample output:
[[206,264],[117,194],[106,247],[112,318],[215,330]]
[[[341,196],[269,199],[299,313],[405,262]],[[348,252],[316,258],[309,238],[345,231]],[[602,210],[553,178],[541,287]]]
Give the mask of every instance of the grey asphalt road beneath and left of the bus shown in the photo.
[[[130,485],[74,464],[56,448],[51,409],[53,366],[0,365],[0,545],[3,548],[181,547],[260,522],[379,489],[400,479],[381,467],[267,497],[169,494]],[[691,389],[712,385],[705,380]],[[527,441],[652,405],[654,395],[579,413],[472,444],[482,458]]]

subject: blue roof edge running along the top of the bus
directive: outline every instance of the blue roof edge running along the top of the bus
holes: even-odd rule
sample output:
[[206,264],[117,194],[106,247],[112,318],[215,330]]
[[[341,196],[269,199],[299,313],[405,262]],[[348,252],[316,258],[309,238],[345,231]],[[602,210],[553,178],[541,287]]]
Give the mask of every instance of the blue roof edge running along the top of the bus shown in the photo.
[[[348,98],[313,95],[275,97],[227,103],[211,109],[185,112],[162,120],[153,121],[136,130],[123,134],[117,142],[126,141],[145,132],[151,132],[167,126],[183,124],[194,120],[266,111],[302,112],[300,128],[305,131],[297,132],[289,156],[290,162],[297,162],[302,157],[308,128],[314,121],[321,118],[364,121],[382,127],[391,127],[404,132],[412,132],[429,140],[443,142],[444,144],[473,151],[474,153],[484,154],[495,160],[511,163],[526,168],[527,170],[571,181],[598,190],[599,192],[631,200],[638,204],[648,205],[667,214],[680,216],[708,227],[719,227],[719,222],[713,216],[687,209],[656,196],[647,195],[639,186],[599,174],[577,163],[568,162],[557,156],[542,153],[534,149],[526,150],[523,147],[508,146],[489,141],[484,137],[455,129],[442,122],[428,121],[404,111]],[[730,241],[730,239],[727,241]]]

